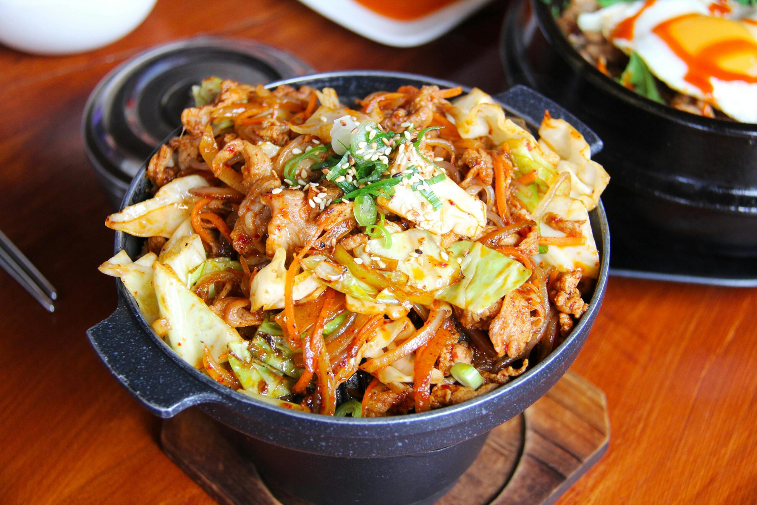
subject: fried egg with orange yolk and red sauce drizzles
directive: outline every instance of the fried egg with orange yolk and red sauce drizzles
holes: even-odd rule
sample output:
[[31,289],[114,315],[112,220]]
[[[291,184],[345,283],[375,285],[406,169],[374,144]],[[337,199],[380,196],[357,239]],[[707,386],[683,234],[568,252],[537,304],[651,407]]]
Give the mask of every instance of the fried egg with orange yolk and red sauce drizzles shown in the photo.
[[757,123],[757,11],[731,0],[618,2],[578,17],[671,89]]

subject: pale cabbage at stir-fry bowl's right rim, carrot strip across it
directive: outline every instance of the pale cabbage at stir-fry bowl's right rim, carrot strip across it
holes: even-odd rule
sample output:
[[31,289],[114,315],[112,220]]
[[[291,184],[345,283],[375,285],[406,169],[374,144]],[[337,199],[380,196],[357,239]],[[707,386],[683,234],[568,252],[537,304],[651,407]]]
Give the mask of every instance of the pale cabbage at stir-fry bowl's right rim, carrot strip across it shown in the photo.
[[[555,267],[560,272],[581,269],[584,271],[584,277],[597,279],[600,273],[600,253],[597,251],[597,243],[594,242],[594,235],[591,232],[589,223],[589,214],[584,206],[584,202],[570,198],[568,196],[556,195],[550,201],[545,214],[552,212],[565,220],[583,220],[581,225],[581,236],[586,238],[585,245],[575,245],[569,247],[559,247],[550,245],[547,252],[537,254],[534,257],[537,263],[545,263]],[[551,228],[545,223],[540,223],[541,235],[545,237],[564,237],[565,233]]]

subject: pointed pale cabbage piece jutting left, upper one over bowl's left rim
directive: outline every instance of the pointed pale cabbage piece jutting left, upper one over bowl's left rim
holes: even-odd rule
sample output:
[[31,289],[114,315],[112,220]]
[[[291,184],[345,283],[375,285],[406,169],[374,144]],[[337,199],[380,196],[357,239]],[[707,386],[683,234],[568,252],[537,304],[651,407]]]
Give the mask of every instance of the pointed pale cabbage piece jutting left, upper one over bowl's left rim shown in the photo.
[[105,226],[138,237],[170,238],[192,212],[198,197],[189,190],[207,186],[201,176],[173,179],[157,190],[154,198],[129,205],[105,220]]

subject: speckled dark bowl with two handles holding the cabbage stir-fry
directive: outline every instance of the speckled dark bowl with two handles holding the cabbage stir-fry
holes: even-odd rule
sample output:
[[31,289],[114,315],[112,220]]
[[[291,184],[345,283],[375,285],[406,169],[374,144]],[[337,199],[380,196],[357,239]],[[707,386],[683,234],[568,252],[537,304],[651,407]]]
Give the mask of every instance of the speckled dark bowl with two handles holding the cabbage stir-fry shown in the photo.
[[[343,100],[412,84],[455,83],[405,73],[322,73],[272,83],[336,89]],[[506,111],[536,127],[545,109],[579,128],[593,148],[601,142],[556,104],[523,86],[497,95]],[[121,207],[148,198],[144,167]],[[218,384],[189,366],[152,331],[136,302],[117,282],[117,310],[87,334],[111,373],[152,413],[175,416],[198,406],[246,435],[244,450],[263,480],[312,503],[433,503],[475,460],[487,433],[521,413],[549,390],[575,360],[605,293],[609,231],[602,204],[590,213],[602,258],[587,312],[568,338],[524,376],[453,407],[375,419],[294,412],[254,400]],[[116,233],[115,251],[136,257],[142,238]]]

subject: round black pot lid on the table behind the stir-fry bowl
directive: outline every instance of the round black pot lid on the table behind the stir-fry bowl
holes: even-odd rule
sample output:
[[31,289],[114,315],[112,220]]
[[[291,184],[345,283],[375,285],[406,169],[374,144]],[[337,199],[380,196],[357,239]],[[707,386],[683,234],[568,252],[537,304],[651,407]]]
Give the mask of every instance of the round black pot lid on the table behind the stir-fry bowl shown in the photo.
[[114,68],[89,95],[87,154],[106,190],[123,194],[194,105],[192,85],[209,76],[259,84],[311,72],[298,58],[251,40],[200,37],[159,45]]

